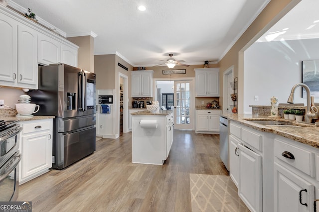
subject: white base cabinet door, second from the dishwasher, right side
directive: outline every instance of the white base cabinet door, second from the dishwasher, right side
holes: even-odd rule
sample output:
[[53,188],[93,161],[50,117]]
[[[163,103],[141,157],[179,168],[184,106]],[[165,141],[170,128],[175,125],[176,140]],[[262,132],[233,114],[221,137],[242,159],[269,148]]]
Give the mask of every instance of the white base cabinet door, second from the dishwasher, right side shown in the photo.
[[238,196],[252,212],[262,212],[262,157],[238,144],[239,184]]

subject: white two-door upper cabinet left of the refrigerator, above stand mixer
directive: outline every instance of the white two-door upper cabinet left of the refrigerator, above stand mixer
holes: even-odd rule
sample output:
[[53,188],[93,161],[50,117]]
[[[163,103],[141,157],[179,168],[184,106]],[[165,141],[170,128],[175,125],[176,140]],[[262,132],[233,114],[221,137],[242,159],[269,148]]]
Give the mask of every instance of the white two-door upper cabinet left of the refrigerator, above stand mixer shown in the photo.
[[0,85],[38,88],[37,33],[0,13]]

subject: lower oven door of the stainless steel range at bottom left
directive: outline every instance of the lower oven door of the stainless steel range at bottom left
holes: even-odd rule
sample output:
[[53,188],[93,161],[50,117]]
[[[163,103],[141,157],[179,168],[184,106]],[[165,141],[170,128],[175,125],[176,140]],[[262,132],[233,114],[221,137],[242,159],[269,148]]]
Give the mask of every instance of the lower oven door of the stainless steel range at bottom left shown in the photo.
[[18,164],[20,154],[16,152],[0,168],[0,202],[16,201],[18,197]]

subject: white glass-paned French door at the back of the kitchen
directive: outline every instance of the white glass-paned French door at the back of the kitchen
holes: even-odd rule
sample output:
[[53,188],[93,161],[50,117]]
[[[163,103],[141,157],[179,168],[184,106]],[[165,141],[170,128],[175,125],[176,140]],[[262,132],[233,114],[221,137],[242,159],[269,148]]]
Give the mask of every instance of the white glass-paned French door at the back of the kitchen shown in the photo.
[[174,81],[174,128],[193,129],[192,81]]

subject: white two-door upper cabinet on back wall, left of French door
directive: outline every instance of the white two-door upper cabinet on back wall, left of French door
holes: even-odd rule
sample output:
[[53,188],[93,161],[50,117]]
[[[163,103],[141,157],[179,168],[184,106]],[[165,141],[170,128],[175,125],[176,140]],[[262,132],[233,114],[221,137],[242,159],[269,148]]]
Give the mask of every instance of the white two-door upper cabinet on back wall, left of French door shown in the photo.
[[153,97],[153,73],[154,71],[132,72],[132,97]]

